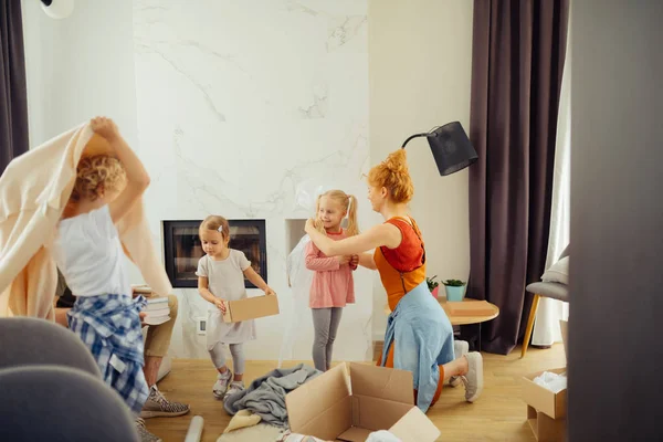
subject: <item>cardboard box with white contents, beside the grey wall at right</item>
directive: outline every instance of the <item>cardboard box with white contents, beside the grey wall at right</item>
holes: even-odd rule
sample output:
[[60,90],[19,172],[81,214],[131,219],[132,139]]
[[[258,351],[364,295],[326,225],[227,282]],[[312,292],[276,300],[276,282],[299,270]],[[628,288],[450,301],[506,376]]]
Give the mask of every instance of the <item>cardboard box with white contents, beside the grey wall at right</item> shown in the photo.
[[[562,373],[566,372],[566,368],[545,371]],[[534,383],[534,379],[543,372],[538,371],[523,378],[523,400],[527,403],[527,421],[537,441],[564,441],[566,435],[567,390],[564,389],[555,393]]]

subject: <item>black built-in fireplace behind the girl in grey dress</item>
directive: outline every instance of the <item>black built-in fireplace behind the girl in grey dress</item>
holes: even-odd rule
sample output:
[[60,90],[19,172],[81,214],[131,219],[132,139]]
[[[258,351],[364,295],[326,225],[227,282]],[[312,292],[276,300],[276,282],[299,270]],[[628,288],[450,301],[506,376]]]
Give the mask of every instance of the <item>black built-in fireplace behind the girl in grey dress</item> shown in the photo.
[[[175,288],[198,287],[198,261],[204,255],[198,228],[202,221],[164,221],[166,273]],[[228,220],[230,248],[241,250],[251,266],[267,282],[265,220]],[[246,288],[256,288],[244,280]]]

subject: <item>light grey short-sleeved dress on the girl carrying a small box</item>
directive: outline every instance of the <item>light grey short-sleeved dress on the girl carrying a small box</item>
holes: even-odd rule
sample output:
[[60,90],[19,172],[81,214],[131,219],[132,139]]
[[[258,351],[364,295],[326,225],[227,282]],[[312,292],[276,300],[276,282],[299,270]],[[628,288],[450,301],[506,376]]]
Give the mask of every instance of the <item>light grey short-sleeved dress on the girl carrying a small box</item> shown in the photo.
[[[239,301],[249,297],[244,286],[244,271],[251,262],[244,252],[230,249],[230,254],[223,261],[214,261],[204,255],[198,262],[196,274],[208,278],[212,295],[224,301]],[[207,347],[211,350],[218,343],[242,344],[255,339],[255,323],[253,319],[241,323],[224,323],[221,311],[210,305],[208,309]]]

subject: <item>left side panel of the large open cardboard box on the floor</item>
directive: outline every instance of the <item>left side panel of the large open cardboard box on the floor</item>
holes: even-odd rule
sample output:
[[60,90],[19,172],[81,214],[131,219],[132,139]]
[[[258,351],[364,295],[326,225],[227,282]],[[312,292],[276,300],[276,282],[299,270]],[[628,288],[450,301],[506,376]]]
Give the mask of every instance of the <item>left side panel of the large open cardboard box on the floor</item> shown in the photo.
[[291,430],[335,440],[352,424],[347,366],[340,364],[285,397]]

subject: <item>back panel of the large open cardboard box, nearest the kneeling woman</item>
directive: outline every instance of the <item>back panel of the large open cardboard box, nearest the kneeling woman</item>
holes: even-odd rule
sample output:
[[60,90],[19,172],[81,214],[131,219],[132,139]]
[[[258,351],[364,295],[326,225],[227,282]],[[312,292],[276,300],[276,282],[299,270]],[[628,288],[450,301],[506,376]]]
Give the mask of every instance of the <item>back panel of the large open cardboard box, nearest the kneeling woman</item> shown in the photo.
[[372,365],[350,364],[352,396],[387,399],[394,402],[414,403],[412,373]]

